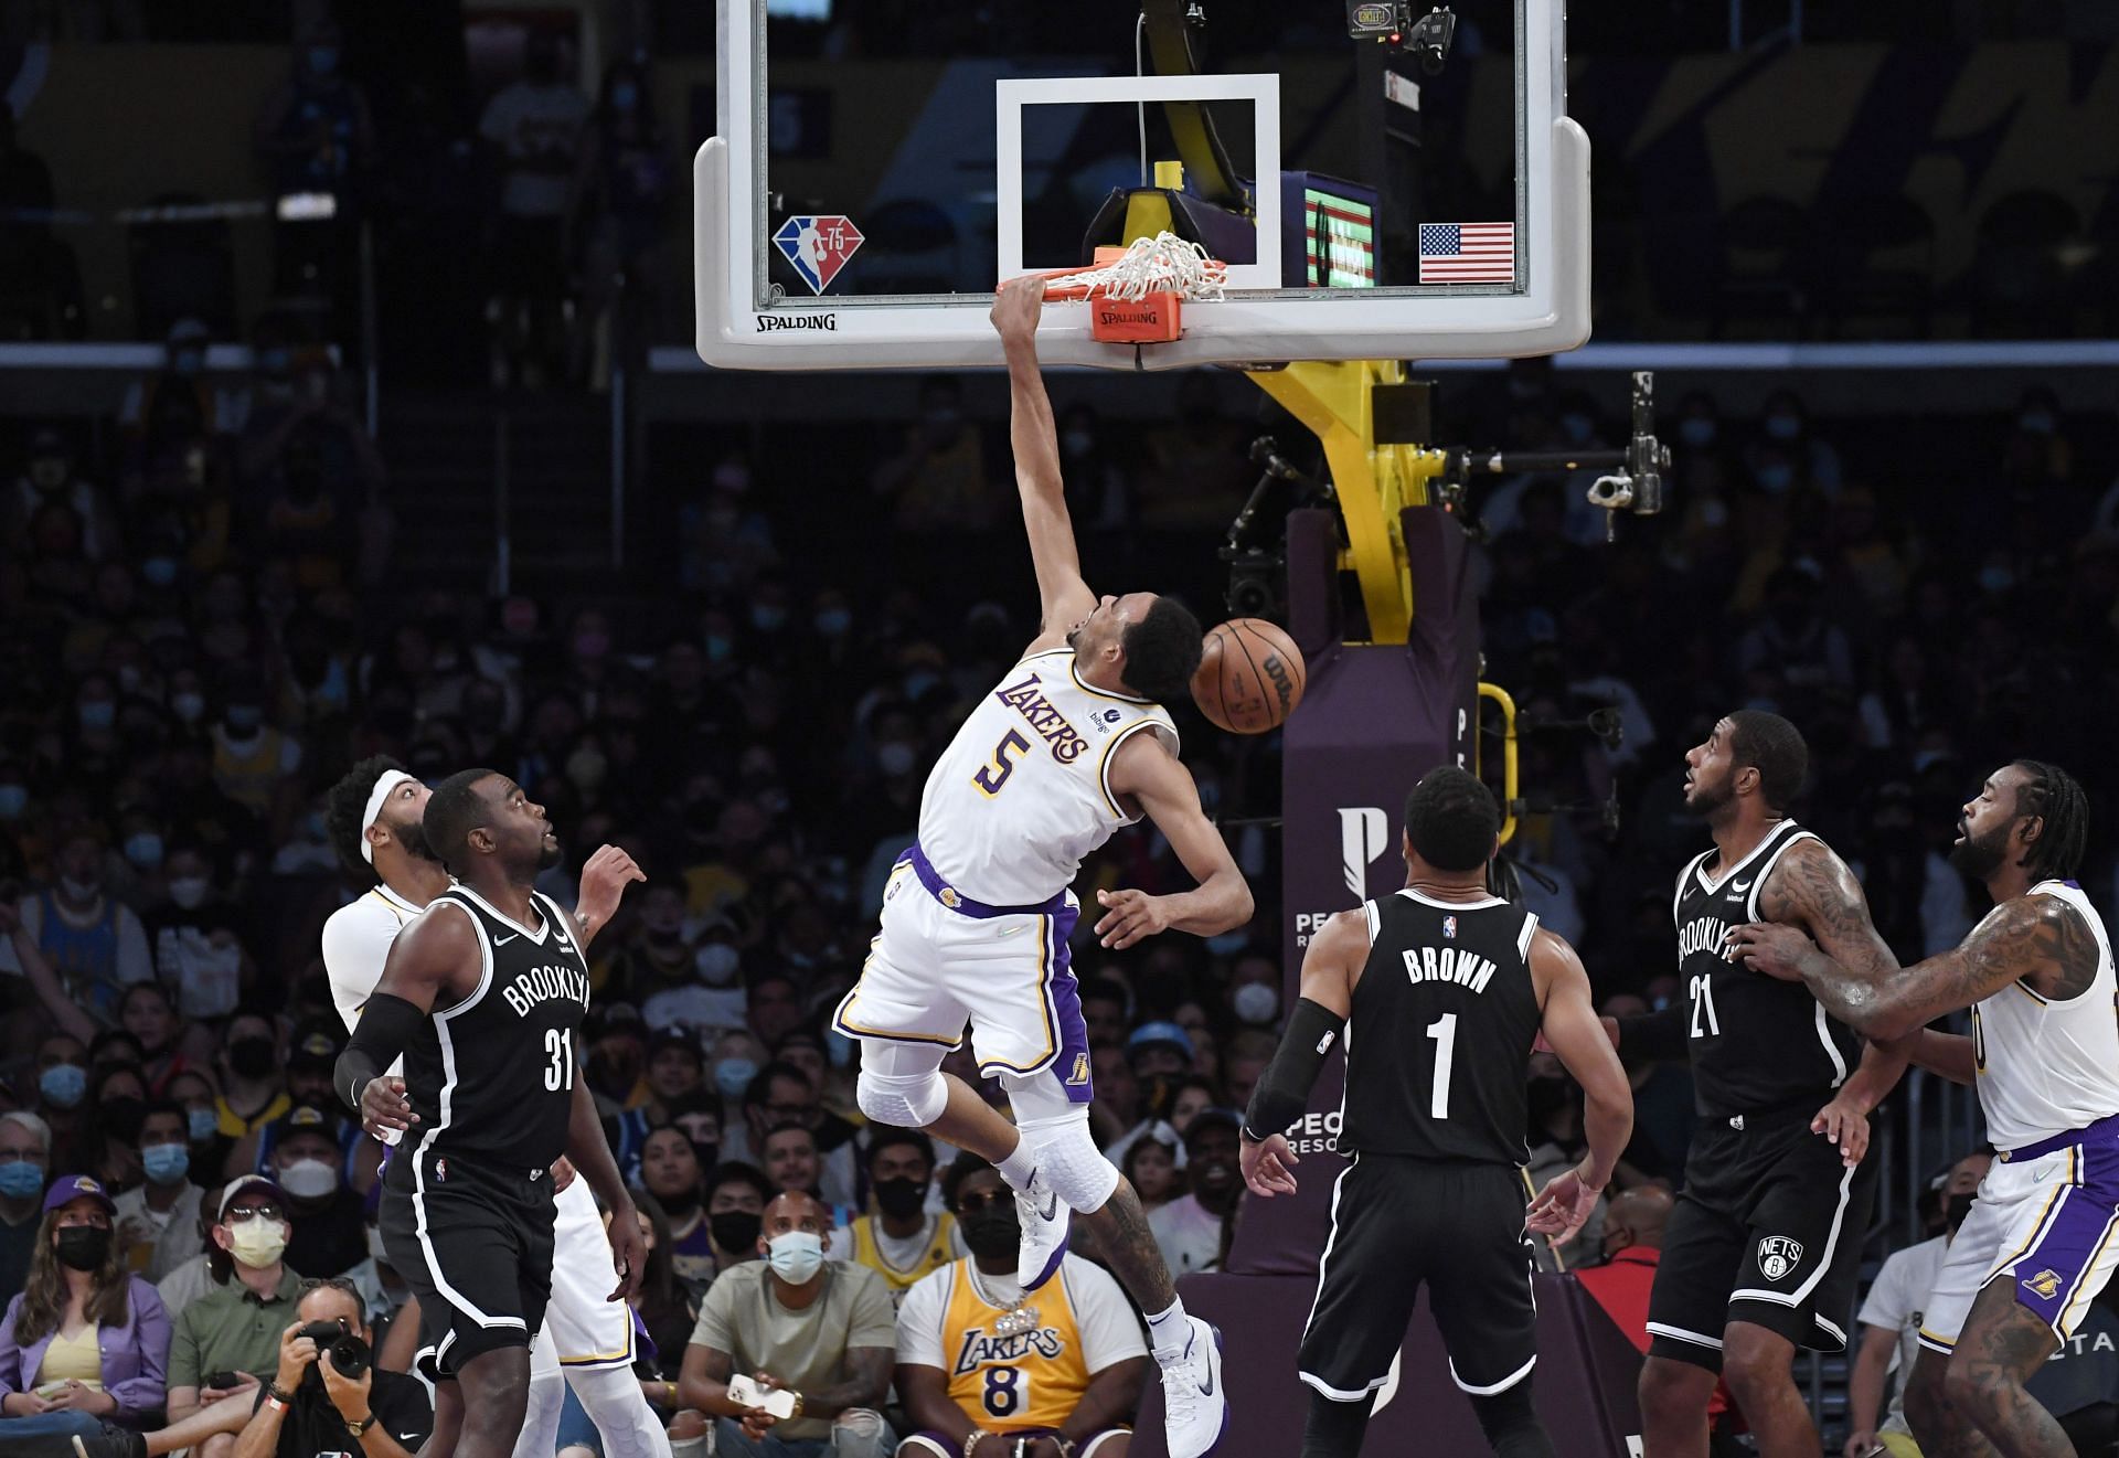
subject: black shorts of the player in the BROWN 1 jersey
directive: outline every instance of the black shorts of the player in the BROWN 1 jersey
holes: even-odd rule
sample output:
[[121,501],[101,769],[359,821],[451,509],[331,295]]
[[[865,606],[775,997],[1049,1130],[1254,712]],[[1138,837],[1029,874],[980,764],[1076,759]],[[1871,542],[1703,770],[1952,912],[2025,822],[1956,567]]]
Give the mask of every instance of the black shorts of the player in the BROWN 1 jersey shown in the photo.
[[1538,1361],[1528,1199],[1515,1166],[1356,1157],[1333,1189],[1303,1382],[1341,1403],[1384,1386],[1422,1286],[1460,1388],[1492,1397],[1528,1377]]

